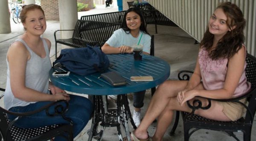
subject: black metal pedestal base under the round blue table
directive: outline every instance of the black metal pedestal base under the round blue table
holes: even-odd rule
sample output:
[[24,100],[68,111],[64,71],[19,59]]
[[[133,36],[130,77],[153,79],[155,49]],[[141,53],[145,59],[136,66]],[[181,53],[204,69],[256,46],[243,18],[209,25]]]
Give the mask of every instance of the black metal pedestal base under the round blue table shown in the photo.
[[[89,134],[88,141],[91,141],[92,138],[96,137],[98,138],[98,141],[101,141],[105,127],[116,127],[119,141],[123,141],[120,124],[125,128],[128,141],[131,141],[128,121],[130,120],[134,129],[137,127],[131,116],[127,94],[117,96],[116,109],[108,109],[106,95],[96,95],[94,97],[95,101],[93,101],[93,103],[95,103],[95,110],[91,128],[87,131]],[[100,131],[98,131],[99,125],[101,127]]]

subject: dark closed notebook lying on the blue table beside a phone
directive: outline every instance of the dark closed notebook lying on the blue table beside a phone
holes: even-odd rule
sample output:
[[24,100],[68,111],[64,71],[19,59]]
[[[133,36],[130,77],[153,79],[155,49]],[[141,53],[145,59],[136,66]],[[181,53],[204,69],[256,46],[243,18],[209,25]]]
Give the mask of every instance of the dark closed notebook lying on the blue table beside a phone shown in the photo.
[[112,86],[122,86],[126,84],[125,78],[117,74],[116,72],[102,73],[101,77],[108,81]]

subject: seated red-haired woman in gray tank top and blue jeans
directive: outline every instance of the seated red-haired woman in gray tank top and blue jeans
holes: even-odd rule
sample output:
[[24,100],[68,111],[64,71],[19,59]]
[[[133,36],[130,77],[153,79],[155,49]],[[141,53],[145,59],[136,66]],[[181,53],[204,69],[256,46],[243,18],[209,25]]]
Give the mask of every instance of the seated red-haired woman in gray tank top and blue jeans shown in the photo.
[[[23,6],[20,20],[25,32],[9,47],[6,56],[7,82],[4,104],[12,112],[29,112],[39,109],[52,101],[66,100],[69,109],[65,113],[73,121],[73,136],[86,126],[92,113],[92,103],[84,97],[68,95],[64,90],[49,83],[51,61],[49,51],[51,43],[41,37],[46,30],[46,19],[41,6],[29,4]],[[48,89],[52,95],[49,95]],[[49,109],[54,113],[54,107]],[[8,115],[10,120],[15,119]],[[53,124],[66,124],[61,115],[49,117],[45,111],[19,118],[15,126],[21,128],[38,128]],[[63,141],[58,136],[55,141]]]

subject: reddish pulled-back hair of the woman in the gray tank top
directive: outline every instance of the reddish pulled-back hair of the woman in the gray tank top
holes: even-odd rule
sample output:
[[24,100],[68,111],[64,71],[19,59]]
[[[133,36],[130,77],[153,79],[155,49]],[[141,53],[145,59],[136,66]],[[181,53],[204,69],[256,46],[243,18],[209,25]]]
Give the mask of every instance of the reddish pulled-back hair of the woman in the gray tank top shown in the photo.
[[[20,21],[21,21],[21,23],[25,23],[26,17],[27,17],[26,16],[27,12],[29,12],[31,10],[35,10],[35,9],[41,10],[44,14],[44,10],[41,8],[41,6],[38,6],[36,4],[29,4],[29,5],[22,6],[22,10],[20,12]],[[26,30],[25,27],[24,27],[24,29]]]

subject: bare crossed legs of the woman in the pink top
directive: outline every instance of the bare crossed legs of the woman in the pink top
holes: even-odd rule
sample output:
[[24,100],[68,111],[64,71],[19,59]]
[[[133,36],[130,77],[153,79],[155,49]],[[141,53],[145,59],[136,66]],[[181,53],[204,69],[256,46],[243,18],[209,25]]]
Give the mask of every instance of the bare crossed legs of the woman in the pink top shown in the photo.
[[[147,112],[141,122],[140,126],[134,131],[137,138],[146,139],[148,138],[147,129],[158,117],[157,130],[153,136],[154,141],[160,141],[163,137],[169,124],[172,122],[173,110],[191,112],[191,109],[187,104],[180,104],[177,101],[177,93],[182,91],[187,84],[187,81],[166,81],[161,84],[155,92],[153,98],[150,101]],[[199,84],[195,89],[204,89],[202,84]],[[207,101],[203,102],[205,105]],[[219,120],[219,121],[230,121],[226,115],[222,112],[223,107],[217,102],[212,101],[212,106],[208,110],[196,110],[195,114],[204,116],[206,118]],[[218,116],[212,116],[214,115]]]

